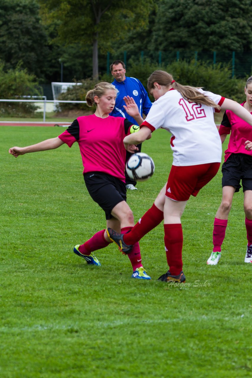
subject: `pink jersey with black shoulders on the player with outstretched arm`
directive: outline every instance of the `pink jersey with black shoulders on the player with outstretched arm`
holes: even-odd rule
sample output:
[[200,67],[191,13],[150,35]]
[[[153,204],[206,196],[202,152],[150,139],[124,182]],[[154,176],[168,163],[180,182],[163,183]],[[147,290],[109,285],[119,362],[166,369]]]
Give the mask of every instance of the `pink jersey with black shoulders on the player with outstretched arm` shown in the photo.
[[132,122],[122,117],[99,118],[96,115],[77,118],[59,138],[71,147],[77,141],[83,174],[104,172],[125,182],[126,150],[123,139]]

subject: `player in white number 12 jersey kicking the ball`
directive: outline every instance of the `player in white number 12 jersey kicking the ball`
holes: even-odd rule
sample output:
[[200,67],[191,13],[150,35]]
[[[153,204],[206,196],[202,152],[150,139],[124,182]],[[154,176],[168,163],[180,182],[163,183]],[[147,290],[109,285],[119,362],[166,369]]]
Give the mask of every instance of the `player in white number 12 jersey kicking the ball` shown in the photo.
[[183,234],[181,216],[190,195],[196,196],[217,173],[221,162],[221,141],[213,112],[230,109],[252,125],[252,115],[237,102],[200,88],[183,86],[165,71],[148,78],[148,91],[155,98],[141,130],[124,138],[124,145],[141,143],[159,128],[172,134],[173,165],[168,182],[134,228],[122,235],[108,229],[108,235],[127,253],[131,245],[164,218],[164,243],[169,270],[159,280],[184,282],[182,271]]

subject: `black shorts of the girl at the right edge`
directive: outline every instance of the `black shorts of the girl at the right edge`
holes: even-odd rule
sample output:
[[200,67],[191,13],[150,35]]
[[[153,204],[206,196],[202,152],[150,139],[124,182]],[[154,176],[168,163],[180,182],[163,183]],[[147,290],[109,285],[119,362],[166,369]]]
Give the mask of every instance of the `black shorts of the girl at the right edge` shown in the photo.
[[252,156],[245,153],[232,153],[222,168],[222,187],[233,186],[239,192],[241,185],[243,192],[252,190]]

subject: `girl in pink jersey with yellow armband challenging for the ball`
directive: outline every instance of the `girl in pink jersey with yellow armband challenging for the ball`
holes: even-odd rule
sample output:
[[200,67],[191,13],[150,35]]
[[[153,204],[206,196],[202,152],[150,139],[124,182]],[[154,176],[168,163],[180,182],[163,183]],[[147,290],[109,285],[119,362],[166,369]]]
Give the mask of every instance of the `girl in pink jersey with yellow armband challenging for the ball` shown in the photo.
[[[12,147],[9,153],[17,157],[28,152],[56,149],[66,143],[69,147],[77,141],[84,166],[84,180],[94,201],[105,211],[107,227],[126,233],[134,226],[133,213],[126,202],[125,156],[123,139],[130,133],[132,122],[125,118],[113,117],[112,112],[117,95],[114,85],[101,82],[88,91],[86,100],[89,106],[96,104],[93,115],[77,118],[68,129],[56,138],[27,147]],[[136,119],[143,121],[135,101],[125,98],[125,110]],[[129,152],[136,146],[131,145]],[[93,251],[105,248],[111,243],[105,229],[94,234],[82,245],[74,247],[74,253],[83,257],[88,264],[100,266],[92,255]],[[139,243],[136,242],[128,254],[133,267],[132,278],[150,279],[142,266]]]

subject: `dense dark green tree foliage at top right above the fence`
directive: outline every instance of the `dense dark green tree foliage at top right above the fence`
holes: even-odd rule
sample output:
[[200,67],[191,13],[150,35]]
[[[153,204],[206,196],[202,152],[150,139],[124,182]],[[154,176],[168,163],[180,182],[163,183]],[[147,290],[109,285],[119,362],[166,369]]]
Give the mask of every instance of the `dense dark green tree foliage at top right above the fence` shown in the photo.
[[250,0],[159,1],[153,50],[251,51]]

